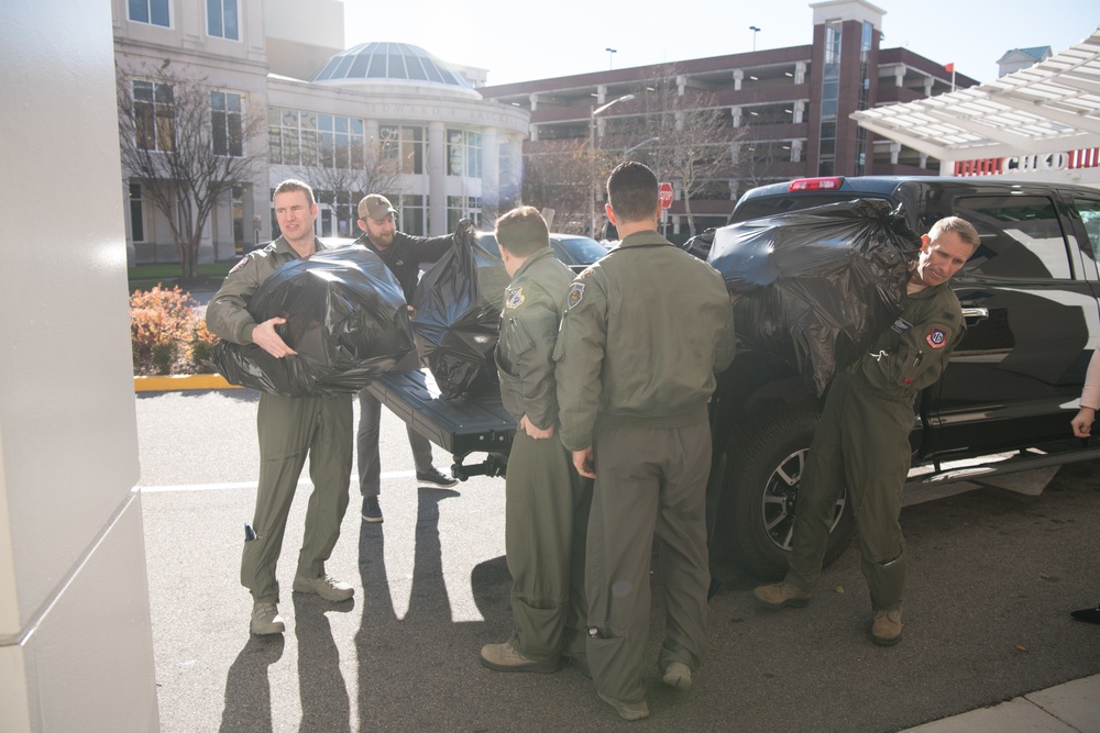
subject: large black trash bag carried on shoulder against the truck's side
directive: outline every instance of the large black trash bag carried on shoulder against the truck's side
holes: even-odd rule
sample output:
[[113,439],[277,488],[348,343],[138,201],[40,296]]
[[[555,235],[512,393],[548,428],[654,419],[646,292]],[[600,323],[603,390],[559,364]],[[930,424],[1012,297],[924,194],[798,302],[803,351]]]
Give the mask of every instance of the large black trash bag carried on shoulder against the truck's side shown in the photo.
[[738,337],[821,396],[901,313],[920,247],[901,207],[859,199],[724,226],[707,262],[738,296]]

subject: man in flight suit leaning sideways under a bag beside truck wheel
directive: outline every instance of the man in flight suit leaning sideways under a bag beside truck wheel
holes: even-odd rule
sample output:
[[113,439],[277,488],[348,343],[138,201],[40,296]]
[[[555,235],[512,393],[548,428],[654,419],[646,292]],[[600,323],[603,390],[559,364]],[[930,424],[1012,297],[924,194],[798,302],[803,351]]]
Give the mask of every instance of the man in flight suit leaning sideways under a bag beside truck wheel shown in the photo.
[[838,374],[814,432],[795,504],[790,569],[752,593],[771,609],[810,603],[837,498],[845,487],[856,515],[871,596],[871,641],[901,641],[905,543],[901,489],[912,457],[913,402],[936,382],[963,338],[963,309],[948,282],[980,244],[967,221],[948,216],[921,237],[904,310],[868,354]]

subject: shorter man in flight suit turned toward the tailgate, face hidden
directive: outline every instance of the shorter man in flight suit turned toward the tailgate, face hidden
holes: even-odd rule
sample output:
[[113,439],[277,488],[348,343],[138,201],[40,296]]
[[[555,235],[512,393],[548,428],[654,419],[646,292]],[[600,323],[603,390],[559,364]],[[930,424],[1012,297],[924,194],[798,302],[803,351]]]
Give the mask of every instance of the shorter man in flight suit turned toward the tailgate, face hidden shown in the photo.
[[519,423],[505,484],[505,548],[512,573],[512,638],[486,644],[482,664],[502,671],[557,671],[562,655],[585,668],[584,535],[592,482],[561,444],[553,348],[573,273],[550,248],[532,207],[496,222],[512,277],[496,348],[501,396]]

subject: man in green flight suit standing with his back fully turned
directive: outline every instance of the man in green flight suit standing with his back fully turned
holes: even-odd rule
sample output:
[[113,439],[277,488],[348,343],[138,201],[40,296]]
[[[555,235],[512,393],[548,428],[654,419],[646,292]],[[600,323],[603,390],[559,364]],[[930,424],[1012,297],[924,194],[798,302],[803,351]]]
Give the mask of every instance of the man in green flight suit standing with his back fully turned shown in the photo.
[[707,402],[734,356],[734,313],[710,265],[657,232],[653,171],[607,179],[622,243],[570,286],[554,358],[561,441],[595,479],[586,543],[587,662],[619,717],[649,715],[649,570],[660,549],[667,610],[658,666],[691,686],[707,640]]

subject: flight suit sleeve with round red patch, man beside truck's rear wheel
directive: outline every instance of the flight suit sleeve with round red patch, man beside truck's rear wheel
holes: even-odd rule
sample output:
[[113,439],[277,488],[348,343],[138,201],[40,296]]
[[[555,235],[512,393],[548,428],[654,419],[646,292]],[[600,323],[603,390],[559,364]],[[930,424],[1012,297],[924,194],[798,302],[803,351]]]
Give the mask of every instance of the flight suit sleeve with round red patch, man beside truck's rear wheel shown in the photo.
[[[899,319],[899,322],[902,322]],[[933,318],[904,327],[895,322],[892,348],[883,349],[879,340],[875,352],[864,354],[859,369],[875,389],[899,397],[911,396],[928,387],[947,368],[947,362],[955,344],[963,337],[961,318],[955,320],[953,313],[939,311]],[[902,322],[903,323],[903,322]]]

